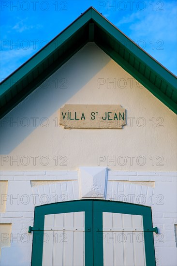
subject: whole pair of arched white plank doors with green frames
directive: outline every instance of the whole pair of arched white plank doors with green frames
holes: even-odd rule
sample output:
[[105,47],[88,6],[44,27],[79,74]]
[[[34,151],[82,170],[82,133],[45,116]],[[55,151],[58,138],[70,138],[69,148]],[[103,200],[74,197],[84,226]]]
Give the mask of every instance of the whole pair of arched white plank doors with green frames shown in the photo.
[[31,229],[31,266],[156,265],[149,207],[91,200],[39,206]]

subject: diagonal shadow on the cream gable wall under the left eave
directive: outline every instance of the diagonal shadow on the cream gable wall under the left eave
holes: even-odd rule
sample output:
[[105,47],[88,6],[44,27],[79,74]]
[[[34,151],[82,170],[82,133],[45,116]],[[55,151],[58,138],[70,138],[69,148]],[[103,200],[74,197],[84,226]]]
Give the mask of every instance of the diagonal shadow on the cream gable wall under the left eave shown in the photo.
[[103,54],[96,44],[86,44],[2,118],[0,154],[9,154],[43,122],[41,118],[49,118],[82,89],[111,60]]

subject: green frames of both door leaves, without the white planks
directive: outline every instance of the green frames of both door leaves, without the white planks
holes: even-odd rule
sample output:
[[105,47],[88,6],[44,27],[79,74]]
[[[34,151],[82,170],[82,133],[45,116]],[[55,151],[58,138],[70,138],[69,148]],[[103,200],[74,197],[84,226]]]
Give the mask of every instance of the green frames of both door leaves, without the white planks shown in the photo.
[[[146,265],[155,266],[151,208],[131,203],[106,200],[75,200],[35,207],[31,266],[42,266],[44,242],[44,216],[47,214],[85,212],[85,266],[103,266],[103,212],[143,216]],[[98,230],[99,229],[99,230]],[[93,256],[93,253],[96,254]]]

